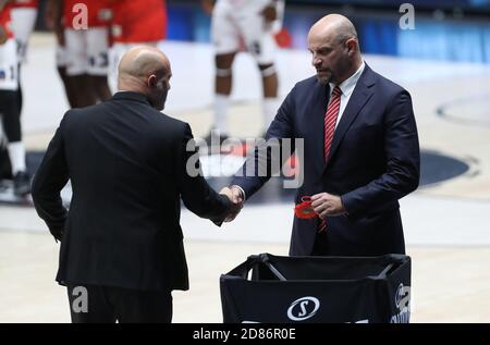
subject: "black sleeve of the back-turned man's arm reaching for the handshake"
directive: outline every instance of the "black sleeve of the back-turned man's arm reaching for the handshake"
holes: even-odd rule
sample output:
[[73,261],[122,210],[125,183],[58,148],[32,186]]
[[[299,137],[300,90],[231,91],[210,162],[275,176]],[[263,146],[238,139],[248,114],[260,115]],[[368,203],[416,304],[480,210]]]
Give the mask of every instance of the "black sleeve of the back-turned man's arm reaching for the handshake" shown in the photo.
[[[191,143],[191,145],[188,145]],[[228,215],[231,202],[228,197],[218,194],[203,177],[199,153],[188,124],[182,141],[182,161],[180,168],[180,192],[187,209],[200,218],[221,223]]]

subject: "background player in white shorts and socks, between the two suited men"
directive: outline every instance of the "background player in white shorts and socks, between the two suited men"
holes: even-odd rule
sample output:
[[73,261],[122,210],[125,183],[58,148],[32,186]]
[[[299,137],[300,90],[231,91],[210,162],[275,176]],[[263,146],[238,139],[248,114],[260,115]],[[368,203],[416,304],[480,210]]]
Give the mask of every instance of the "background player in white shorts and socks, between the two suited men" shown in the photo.
[[[221,140],[226,138],[226,113],[232,90],[232,64],[241,45],[257,62],[262,77],[264,126],[272,122],[279,108],[278,74],[274,66],[277,44],[273,35],[284,2],[278,0],[203,0],[205,11],[212,14],[211,38],[216,50],[216,100],[213,130]],[[207,138],[208,140],[210,137]]]

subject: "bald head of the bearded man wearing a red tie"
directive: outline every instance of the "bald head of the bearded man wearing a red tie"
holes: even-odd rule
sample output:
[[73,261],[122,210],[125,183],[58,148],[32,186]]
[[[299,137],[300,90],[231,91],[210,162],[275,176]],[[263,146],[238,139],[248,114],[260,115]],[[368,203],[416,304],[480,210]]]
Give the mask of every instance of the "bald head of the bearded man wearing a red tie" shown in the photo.
[[322,84],[340,85],[363,63],[356,28],[340,14],[326,15],[311,26],[308,49]]

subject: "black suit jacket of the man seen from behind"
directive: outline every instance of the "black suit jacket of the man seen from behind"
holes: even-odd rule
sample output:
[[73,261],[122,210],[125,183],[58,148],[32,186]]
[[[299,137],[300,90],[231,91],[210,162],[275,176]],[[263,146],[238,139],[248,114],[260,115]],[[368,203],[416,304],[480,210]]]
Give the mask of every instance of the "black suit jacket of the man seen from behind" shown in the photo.
[[[181,198],[213,221],[230,207],[203,176],[187,174],[192,137],[188,124],[135,93],[64,115],[33,184],[39,217],[61,239],[58,282],[188,288]],[[66,212],[60,190],[69,178]]]

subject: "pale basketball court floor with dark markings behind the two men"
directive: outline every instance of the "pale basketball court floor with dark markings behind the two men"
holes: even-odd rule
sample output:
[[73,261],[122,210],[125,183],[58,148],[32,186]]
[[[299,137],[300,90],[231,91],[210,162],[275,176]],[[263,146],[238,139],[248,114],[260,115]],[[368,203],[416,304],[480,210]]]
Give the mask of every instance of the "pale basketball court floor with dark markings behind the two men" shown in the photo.
[[[182,42],[161,48],[173,69],[166,113],[205,137],[211,126],[212,50]],[[413,259],[412,321],[490,322],[490,65],[365,60],[411,91],[419,128],[422,185],[401,201]],[[278,67],[282,97],[314,74],[306,50],[281,51]],[[238,56],[234,72],[230,135],[255,137],[262,131],[259,74],[247,56]],[[68,109],[51,36],[33,38],[23,78],[26,144],[42,151]],[[242,157],[203,158],[217,189],[241,162]],[[217,168],[220,178],[212,173]],[[221,322],[220,274],[249,255],[287,255],[292,198],[271,181],[254,199],[221,229],[183,211],[191,291],[173,294],[174,322]],[[59,245],[32,207],[10,201],[8,190],[0,193],[0,322],[70,322],[65,289],[53,281]]]

